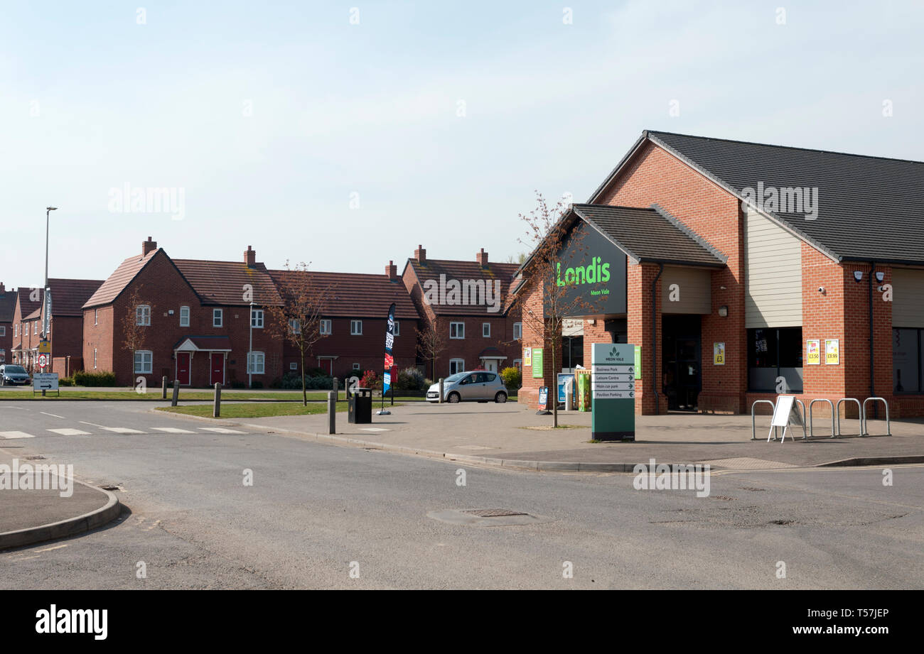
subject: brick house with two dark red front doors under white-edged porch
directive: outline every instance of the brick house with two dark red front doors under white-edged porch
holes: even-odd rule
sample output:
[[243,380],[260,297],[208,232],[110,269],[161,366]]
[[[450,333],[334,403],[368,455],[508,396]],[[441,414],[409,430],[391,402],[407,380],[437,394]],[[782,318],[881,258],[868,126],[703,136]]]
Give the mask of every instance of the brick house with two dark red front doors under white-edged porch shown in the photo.
[[[136,290],[139,306],[131,307]],[[246,385],[250,369],[255,385],[269,386],[283,371],[282,345],[264,308],[280,302],[252,248],[240,262],[173,260],[149,236],[83,305],[85,369],[115,372],[120,385],[138,377],[159,385],[165,376],[200,387]],[[134,357],[123,347],[126,320],[147,332]]]

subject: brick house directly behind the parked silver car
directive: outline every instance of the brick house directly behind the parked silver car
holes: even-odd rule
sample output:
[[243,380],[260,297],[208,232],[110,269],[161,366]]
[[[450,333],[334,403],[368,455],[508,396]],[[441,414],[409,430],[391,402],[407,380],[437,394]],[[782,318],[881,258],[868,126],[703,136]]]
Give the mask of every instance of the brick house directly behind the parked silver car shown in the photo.
[[421,329],[432,325],[445,344],[435,370],[419,357],[428,376],[520,365],[522,322],[519,309],[510,309],[508,302],[518,268],[490,262],[484,248],[471,261],[427,259],[422,246],[414,250],[401,278],[419,311]]

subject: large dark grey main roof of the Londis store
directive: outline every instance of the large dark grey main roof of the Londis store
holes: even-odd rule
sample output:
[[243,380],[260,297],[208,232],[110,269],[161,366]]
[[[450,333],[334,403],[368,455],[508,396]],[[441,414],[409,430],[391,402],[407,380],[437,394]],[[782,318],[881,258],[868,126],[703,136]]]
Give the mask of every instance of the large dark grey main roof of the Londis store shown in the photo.
[[762,211],[834,260],[924,264],[924,162],[645,131],[590,198],[597,200],[645,140],[739,199],[744,189],[818,188],[818,217]]

